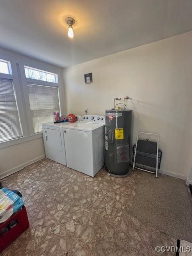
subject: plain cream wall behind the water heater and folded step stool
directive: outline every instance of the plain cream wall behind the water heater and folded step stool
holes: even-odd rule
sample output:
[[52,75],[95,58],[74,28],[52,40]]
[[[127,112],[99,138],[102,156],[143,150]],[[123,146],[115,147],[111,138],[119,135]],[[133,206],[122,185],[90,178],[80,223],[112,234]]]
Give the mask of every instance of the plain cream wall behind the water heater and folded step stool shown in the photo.
[[[84,84],[92,72],[93,83]],[[104,115],[114,97],[130,96],[132,142],[138,132],[160,136],[161,169],[185,178],[191,168],[192,32],[64,69],[66,108]]]

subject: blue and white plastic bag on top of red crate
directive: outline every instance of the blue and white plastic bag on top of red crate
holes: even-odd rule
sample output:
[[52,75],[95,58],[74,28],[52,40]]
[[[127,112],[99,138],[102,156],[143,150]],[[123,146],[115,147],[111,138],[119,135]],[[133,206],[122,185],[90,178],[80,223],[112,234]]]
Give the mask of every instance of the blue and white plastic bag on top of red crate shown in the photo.
[[24,203],[20,196],[8,190],[8,188],[0,189],[0,223],[8,220],[23,205]]

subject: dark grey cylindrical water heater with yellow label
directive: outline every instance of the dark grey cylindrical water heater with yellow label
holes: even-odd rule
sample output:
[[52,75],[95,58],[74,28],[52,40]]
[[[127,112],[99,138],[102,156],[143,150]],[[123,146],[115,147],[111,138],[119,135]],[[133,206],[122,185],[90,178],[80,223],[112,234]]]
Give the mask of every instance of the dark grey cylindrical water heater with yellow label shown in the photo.
[[105,168],[109,174],[128,174],[132,110],[106,110]]

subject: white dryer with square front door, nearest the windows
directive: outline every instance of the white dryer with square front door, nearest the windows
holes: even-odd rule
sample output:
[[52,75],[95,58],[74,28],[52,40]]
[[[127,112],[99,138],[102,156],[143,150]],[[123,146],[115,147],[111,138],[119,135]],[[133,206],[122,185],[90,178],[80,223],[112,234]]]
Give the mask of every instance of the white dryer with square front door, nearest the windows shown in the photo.
[[[75,116],[76,122],[79,122],[81,116]],[[69,125],[70,122],[62,122],[57,124],[54,124],[54,122],[49,122],[42,124],[46,158],[63,165],[66,165],[63,127],[67,127]]]

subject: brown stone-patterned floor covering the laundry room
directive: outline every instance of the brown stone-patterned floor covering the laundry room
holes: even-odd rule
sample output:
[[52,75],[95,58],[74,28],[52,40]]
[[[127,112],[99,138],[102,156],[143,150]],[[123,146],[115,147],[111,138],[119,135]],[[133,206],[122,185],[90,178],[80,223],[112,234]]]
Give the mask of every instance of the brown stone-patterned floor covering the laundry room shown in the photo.
[[[175,178],[169,178],[174,182]],[[155,177],[149,174],[148,179]],[[133,209],[139,204],[136,195],[140,182],[139,171],[114,178],[102,169],[92,178],[48,159],[4,178],[3,186],[22,193],[30,228],[2,255],[175,255],[154,249],[176,246],[180,234],[167,234],[146,217],[142,220],[140,212],[136,217]],[[186,200],[191,203],[189,198]],[[163,200],[160,204],[164,206]]]

